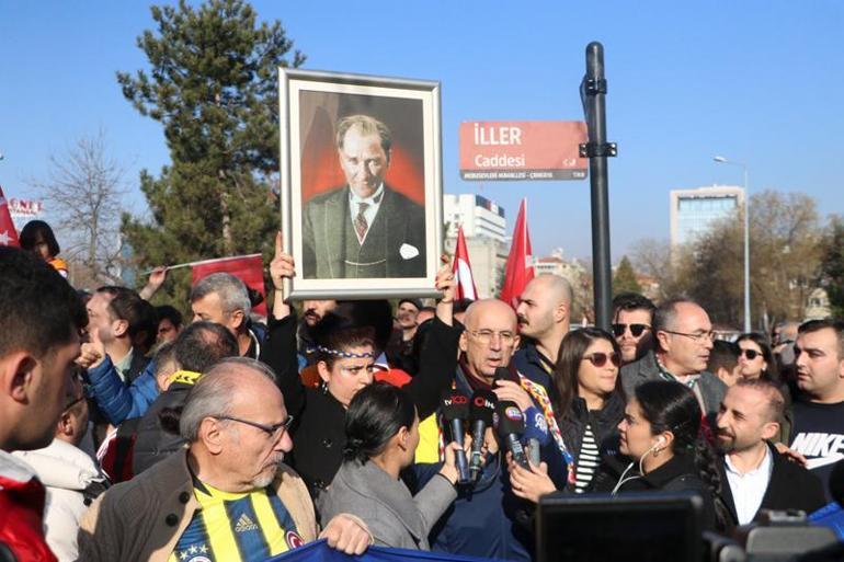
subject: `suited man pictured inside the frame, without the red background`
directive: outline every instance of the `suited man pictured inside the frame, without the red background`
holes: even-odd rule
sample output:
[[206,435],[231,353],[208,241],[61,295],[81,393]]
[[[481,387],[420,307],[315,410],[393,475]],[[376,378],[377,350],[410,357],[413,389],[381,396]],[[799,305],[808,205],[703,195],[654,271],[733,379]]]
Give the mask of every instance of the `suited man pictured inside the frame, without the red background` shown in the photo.
[[424,208],[385,182],[389,128],[368,115],[345,116],[334,142],[346,183],[305,205],[304,277],[424,277]]

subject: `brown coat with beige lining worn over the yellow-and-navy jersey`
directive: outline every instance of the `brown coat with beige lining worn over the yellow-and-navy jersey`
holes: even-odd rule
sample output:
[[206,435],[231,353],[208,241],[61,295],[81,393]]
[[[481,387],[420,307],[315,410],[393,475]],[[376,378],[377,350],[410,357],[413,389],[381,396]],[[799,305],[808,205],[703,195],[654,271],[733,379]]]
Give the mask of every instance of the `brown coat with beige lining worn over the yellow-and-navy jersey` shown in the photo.
[[[282,466],[273,485],[303,540],[316,540],[313,503],[298,474]],[[79,529],[79,560],[167,562],[198,507],[187,451],[175,452],[91,505]]]

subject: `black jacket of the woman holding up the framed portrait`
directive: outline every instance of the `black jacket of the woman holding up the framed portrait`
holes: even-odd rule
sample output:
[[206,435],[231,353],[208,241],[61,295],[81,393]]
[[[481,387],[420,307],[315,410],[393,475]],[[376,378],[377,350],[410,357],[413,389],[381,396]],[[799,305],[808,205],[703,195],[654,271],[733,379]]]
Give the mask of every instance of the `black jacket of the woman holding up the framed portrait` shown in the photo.
[[[287,411],[295,417],[290,434],[293,452],[289,464],[305,480],[315,497],[333,480],[343,462],[345,447],[345,409],[329,392],[306,388],[296,360],[296,318],[271,320],[269,340],[261,358],[278,376],[278,387]],[[441,393],[449,387],[457,369],[454,349],[461,326],[448,326],[438,319],[422,352],[419,374],[404,387],[424,420],[440,405]]]

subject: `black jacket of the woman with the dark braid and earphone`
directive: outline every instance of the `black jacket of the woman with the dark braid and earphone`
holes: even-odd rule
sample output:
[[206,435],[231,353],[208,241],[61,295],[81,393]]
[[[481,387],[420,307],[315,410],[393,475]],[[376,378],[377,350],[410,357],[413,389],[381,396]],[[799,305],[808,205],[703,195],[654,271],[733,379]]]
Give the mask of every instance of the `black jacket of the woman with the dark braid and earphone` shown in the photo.
[[[592,481],[592,491],[612,492],[628,464],[629,459],[621,455],[605,457]],[[675,455],[670,461],[645,477],[637,478],[638,473],[638,467],[634,466],[625,475],[625,480],[628,478],[630,480],[618,489],[618,493],[652,492],[657,490],[665,492],[692,490],[698,492],[704,500],[704,529],[716,529],[715,501],[709,488],[698,475],[693,455]]]

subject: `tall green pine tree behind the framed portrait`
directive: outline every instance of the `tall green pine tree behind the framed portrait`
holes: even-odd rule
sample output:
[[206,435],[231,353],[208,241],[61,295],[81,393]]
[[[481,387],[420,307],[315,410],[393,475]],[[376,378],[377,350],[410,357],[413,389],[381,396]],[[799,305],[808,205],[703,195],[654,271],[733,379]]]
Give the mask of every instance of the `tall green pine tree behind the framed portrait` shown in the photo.
[[[152,7],[157,30],[138,37],[149,70],[117,72],[123,94],[161,123],[171,165],[140,174],[151,217],[124,215],[140,267],[263,251],[278,228],[277,67],[301,65],[278,21],[249,3]],[[186,282],[167,289],[176,302]],[[180,295],[175,295],[180,293]],[[184,301],[181,301],[184,302]]]

